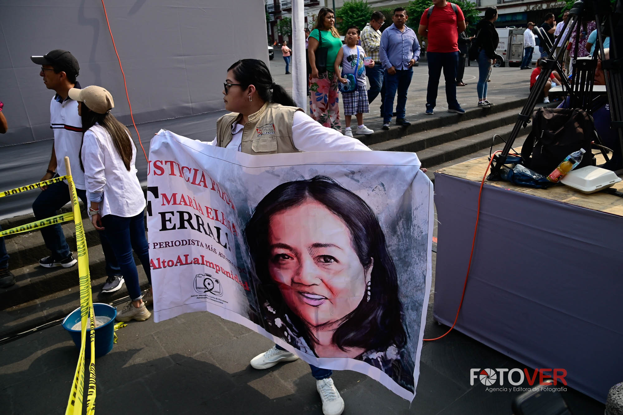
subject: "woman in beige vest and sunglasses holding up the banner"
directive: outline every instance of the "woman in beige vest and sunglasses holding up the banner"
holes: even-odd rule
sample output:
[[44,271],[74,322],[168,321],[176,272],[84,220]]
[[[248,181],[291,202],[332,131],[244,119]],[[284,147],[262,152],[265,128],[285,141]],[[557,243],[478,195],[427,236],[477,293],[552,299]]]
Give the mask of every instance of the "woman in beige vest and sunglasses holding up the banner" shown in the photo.
[[[273,82],[262,60],[242,59],[231,65],[227,70],[223,95],[225,108],[231,113],[217,121],[217,136],[211,142],[212,145],[254,155],[370,150],[356,138],[321,125],[301,108],[297,108],[285,89]],[[289,123],[286,124],[284,119]],[[269,351],[255,356],[251,366],[267,369],[280,361],[297,359],[297,355],[275,345]],[[332,371],[313,365],[310,367],[316,378],[323,414],[341,414],[344,411],[344,400],[333,385]]]

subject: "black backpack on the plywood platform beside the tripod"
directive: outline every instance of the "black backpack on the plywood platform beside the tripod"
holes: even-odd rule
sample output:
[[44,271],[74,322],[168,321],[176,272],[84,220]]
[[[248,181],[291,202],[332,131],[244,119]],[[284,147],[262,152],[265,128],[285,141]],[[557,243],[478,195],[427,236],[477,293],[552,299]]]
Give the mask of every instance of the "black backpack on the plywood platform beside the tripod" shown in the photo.
[[594,166],[591,141],[596,139],[594,121],[581,108],[539,108],[521,148],[522,164],[547,176],[566,156],[584,148],[586,153],[577,168]]

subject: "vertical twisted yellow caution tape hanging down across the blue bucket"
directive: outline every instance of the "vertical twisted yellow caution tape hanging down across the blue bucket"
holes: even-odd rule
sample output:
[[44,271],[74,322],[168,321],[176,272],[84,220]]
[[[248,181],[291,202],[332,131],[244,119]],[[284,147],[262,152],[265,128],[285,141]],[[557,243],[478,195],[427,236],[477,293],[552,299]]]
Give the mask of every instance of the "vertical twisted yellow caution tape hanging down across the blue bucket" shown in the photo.
[[93,310],[93,295],[91,292],[91,276],[88,271],[88,250],[87,239],[82,226],[82,216],[78,207],[78,195],[76,193],[74,180],[71,177],[69,157],[65,157],[67,167],[67,181],[72,195],[72,214],[76,226],[76,243],[78,246],[78,275],[80,275],[80,315],[82,316],[82,329],[80,333],[80,355],[78,355],[78,365],[74,376],[74,384],[69,395],[65,415],[82,415],[82,399],[84,396],[84,376],[85,376],[85,348],[87,340],[87,320],[91,321],[90,340],[91,340],[91,363],[88,365],[88,392],[87,392],[87,415],[95,414],[95,312]]

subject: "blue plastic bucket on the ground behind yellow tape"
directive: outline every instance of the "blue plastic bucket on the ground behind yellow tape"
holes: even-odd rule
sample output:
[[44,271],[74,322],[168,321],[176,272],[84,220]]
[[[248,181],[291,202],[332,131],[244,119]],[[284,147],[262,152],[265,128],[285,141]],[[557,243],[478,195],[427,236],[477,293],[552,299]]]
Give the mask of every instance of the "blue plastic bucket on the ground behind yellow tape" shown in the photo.
[[[93,311],[95,311],[95,318],[97,317],[109,317],[110,321],[95,328],[95,357],[105,355],[113,349],[113,343],[115,338],[115,317],[117,317],[117,308],[112,307],[105,303],[93,303]],[[63,320],[63,328],[69,332],[74,339],[74,343],[80,350],[80,328],[73,330],[72,327],[80,321],[80,307],[69,313]],[[90,358],[91,346],[90,346],[90,326],[87,326],[87,347],[85,349],[85,357]]]

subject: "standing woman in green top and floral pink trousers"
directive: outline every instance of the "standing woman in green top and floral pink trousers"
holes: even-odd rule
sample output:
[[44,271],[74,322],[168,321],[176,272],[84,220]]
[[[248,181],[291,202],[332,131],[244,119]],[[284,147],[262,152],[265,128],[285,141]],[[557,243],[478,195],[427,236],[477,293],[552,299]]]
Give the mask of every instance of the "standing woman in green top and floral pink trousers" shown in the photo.
[[[342,130],[340,107],[338,105],[338,77],[333,70],[335,58],[340,52],[342,41],[335,29],[335,13],[323,7],[318,13],[316,26],[308,38],[310,59],[310,109],[312,118],[322,125]],[[326,67],[316,66],[316,51],[326,49]]]

